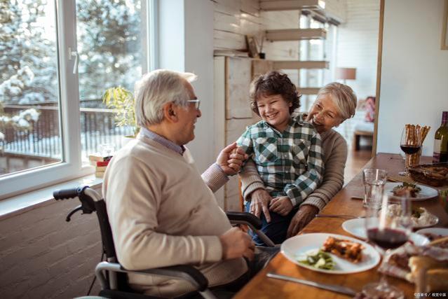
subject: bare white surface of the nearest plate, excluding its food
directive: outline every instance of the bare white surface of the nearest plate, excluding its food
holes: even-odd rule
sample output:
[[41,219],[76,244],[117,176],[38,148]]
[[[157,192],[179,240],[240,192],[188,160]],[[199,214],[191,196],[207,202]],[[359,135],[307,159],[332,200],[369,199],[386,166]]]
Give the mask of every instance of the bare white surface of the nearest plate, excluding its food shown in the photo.
[[[330,253],[335,263],[334,270],[317,269],[315,267],[299,263],[298,258],[300,259],[301,257],[306,256],[306,253],[308,251],[311,251],[312,249],[320,249],[327,237],[348,239],[350,241],[362,244],[365,249],[362,250],[362,259],[360,260],[360,262],[351,263],[348,260],[344,260],[344,258],[339,258],[339,256],[335,256],[334,254]],[[362,242],[359,239],[355,239],[353,237],[326,233],[311,233],[292,237],[283,242],[280,249],[281,252],[286,256],[286,258],[288,260],[291,260],[292,263],[296,263],[301,267],[306,267],[309,270],[329,274],[348,274],[369,270],[372,269],[372,267],[375,267],[381,259],[378,251],[376,251],[372,245],[369,245],[366,242]]]

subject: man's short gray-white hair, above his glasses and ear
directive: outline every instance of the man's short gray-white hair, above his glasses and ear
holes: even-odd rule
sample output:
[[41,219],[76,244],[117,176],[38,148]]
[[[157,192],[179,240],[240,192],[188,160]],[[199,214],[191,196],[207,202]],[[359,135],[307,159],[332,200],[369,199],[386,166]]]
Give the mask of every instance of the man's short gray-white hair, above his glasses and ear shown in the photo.
[[163,120],[163,105],[174,102],[187,106],[189,99],[185,82],[198,78],[192,73],[180,73],[158,69],[145,74],[135,83],[135,119],[137,125],[146,127],[156,125]]

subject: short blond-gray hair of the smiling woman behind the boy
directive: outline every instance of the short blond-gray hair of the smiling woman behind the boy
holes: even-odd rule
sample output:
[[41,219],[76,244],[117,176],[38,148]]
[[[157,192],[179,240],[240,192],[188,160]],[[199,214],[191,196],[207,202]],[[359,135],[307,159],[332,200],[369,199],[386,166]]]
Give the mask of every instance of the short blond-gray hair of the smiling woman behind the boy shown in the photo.
[[353,118],[355,115],[358,99],[356,99],[355,92],[353,92],[350,86],[337,82],[329,83],[323,88],[320,88],[318,98],[321,95],[330,95],[344,120]]

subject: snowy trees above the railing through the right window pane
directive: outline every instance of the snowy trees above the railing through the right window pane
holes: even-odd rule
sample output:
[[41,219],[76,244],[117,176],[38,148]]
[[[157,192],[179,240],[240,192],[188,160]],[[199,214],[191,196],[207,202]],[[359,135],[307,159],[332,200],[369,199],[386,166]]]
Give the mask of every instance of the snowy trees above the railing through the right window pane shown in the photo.
[[133,90],[142,64],[140,1],[77,1],[76,18],[81,100],[117,85]]

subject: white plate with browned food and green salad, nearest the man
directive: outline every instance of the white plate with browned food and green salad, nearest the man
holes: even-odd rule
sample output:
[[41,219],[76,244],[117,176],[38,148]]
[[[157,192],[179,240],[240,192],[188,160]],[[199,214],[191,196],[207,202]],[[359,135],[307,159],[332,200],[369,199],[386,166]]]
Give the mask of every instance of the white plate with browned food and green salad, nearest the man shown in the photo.
[[381,259],[378,251],[353,237],[310,233],[287,239],[280,247],[292,263],[309,270],[329,274],[362,272],[375,267]]

